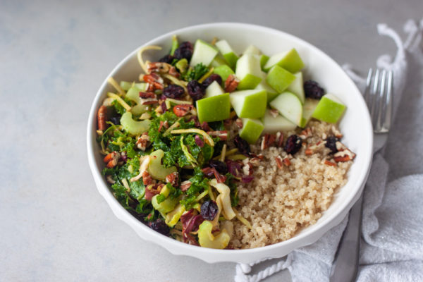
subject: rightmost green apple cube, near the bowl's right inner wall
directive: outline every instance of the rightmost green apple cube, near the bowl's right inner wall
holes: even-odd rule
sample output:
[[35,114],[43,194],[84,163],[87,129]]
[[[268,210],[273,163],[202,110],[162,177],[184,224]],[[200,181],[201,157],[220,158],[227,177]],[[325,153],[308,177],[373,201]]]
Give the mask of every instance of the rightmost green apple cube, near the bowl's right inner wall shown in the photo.
[[335,95],[328,93],[321,97],[312,114],[313,118],[327,123],[337,123],[345,111],[345,105]]

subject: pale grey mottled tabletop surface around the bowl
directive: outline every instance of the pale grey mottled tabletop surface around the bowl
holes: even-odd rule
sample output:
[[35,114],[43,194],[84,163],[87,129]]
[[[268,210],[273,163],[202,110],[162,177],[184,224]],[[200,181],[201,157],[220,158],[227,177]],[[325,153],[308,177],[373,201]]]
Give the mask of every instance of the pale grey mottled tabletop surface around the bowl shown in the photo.
[[366,71],[395,50],[376,23],[400,30],[422,11],[421,0],[1,0],[0,281],[232,281],[235,264],[146,243],[97,193],[85,128],[106,75],[149,39],[217,21],[290,32]]

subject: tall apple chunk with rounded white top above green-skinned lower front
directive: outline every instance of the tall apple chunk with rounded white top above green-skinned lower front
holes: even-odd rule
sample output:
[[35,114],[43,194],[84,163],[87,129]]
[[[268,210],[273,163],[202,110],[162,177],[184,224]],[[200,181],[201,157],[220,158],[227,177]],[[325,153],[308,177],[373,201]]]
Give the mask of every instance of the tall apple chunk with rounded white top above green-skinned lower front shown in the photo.
[[262,68],[256,56],[245,54],[236,62],[236,77],[240,80],[238,90],[254,89],[262,81]]

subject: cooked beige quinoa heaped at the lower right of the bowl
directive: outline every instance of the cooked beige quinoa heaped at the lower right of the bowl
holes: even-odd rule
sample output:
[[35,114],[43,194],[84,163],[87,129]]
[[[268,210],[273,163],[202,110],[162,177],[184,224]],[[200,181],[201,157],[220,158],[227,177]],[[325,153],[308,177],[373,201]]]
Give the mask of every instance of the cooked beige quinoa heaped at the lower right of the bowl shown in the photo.
[[[329,135],[339,135],[338,128],[321,121],[310,121],[307,128],[312,130],[312,135],[302,140],[302,148],[293,156],[283,147],[261,150],[260,140],[251,146],[252,152],[263,154],[264,159],[254,169],[254,180],[238,186],[238,209],[252,228],[234,222],[231,240],[234,248],[263,247],[292,238],[301,228],[316,223],[329,208],[333,194],[347,182],[353,161],[333,161],[331,150],[324,146],[306,154],[307,147]],[[300,133],[298,130],[283,136]],[[278,156],[289,159],[290,164],[278,166]]]

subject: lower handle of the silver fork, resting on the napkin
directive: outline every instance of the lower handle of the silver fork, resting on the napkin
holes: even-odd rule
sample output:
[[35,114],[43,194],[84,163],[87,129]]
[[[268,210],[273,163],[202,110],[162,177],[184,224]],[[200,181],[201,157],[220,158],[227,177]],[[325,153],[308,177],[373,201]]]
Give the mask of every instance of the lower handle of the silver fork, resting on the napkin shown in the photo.
[[360,235],[362,221],[363,195],[355,202],[350,211],[338,252],[331,267],[330,282],[355,281],[360,255]]

